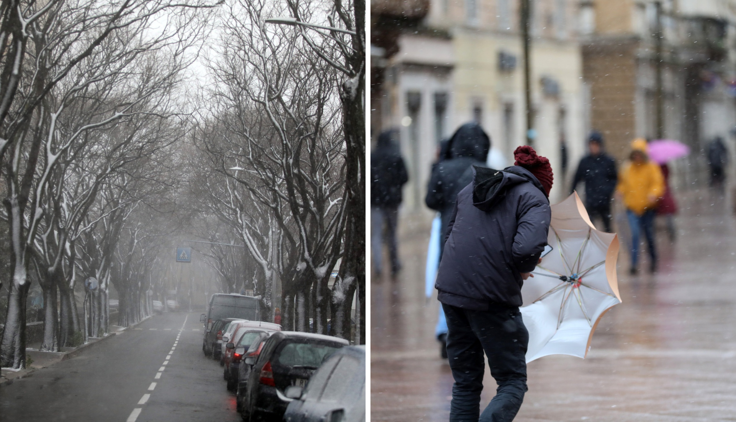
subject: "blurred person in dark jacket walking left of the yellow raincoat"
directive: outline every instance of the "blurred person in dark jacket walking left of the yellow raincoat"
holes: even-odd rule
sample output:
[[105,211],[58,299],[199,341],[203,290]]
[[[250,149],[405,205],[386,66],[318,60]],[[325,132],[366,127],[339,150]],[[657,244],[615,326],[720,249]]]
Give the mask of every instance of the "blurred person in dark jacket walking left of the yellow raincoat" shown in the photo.
[[588,155],[581,158],[570,193],[585,183],[585,208],[590,219],[600,217],[604,230],[611,233],[611,199],[618,175],[616,161],[604,150],[603,135],[593,131],[588,137]]

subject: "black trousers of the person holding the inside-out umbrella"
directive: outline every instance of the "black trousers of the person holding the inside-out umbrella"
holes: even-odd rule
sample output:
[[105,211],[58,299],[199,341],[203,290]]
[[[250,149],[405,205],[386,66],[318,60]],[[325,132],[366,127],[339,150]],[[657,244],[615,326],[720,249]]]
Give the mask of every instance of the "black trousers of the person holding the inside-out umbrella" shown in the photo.
[[[509,422],[526,393],[529,333],[518,308],[494,306],[472,311],[442,303],[447,318],[447,360],[453,372],[450,422]],[[482,414],[484,353],[498,384]]]

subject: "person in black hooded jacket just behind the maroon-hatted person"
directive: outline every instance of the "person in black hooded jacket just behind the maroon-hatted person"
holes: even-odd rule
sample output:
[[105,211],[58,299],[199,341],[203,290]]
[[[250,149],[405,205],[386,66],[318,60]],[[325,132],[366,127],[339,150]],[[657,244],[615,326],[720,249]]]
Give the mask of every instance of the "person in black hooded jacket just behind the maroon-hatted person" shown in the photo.
[[[440,144],[437,161],[432,165],[432,175],[427,186],[425,203],[439,211],[439,259],[445,247],[447,222],[455,208],[458,192],[473,180],[471,166],[484,166],[491,149],[491,139],[480,124],[470,122],[455,131],[450,140]],[[447,323],[440,310],[435,335],[440,342],[440,356],[447,357]]]

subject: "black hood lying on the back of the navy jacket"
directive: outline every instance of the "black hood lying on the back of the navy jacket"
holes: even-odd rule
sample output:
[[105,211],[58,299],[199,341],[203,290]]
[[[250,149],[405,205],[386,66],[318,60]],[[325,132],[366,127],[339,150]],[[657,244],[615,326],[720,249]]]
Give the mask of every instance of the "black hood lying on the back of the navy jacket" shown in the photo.
[[503,171],[473,166],[473,205],[481,211],[490,211],[509,188],[521,183],[531,183],[547,196],[537,177],[521,166],[506,167]]

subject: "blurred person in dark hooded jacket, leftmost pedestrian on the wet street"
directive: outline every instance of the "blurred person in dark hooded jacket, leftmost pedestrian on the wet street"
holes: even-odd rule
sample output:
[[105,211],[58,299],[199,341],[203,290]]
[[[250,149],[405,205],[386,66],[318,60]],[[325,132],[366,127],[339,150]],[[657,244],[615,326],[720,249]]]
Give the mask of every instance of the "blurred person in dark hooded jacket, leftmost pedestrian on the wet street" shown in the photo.
[[408,175],[397,139],[397,130],[386,130],[378,136],[378,143],[370,155],[371,247],[373,267],[379,275],[383,271],[383,233],[389,246],[392,275],[401,269],[396,225],[403,199],[401,189]]

